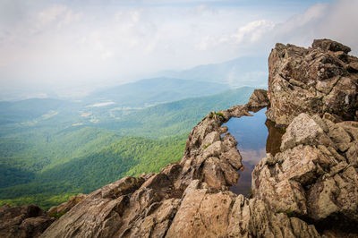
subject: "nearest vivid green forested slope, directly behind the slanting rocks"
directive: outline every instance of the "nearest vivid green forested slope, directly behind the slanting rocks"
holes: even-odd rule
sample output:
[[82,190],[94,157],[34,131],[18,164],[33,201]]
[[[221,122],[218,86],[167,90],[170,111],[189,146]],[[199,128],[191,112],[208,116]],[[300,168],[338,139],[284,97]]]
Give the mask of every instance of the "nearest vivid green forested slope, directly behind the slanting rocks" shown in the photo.
[[72,194],[88,193],[124,175],[158,172],[183,156],[186,137],[166,140],[128,137],[35,174],[30,183],[0,188],[0,204],[35,202],[50,208]]

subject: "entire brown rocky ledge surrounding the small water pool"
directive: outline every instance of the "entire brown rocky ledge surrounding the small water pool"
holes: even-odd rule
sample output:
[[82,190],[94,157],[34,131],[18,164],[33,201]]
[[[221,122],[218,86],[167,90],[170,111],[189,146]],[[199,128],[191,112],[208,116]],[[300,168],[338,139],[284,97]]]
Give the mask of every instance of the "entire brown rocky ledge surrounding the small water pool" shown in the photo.
[[[356,237],[358,60],[348,52],[328,39],[277,44],[268,91],[209,113],[180,163],[51,208],[65,214],[41,237]],[[286,133],[280,152],[255,167],[249,199],[228,190],[244,168],[222,124],[262,106]]]

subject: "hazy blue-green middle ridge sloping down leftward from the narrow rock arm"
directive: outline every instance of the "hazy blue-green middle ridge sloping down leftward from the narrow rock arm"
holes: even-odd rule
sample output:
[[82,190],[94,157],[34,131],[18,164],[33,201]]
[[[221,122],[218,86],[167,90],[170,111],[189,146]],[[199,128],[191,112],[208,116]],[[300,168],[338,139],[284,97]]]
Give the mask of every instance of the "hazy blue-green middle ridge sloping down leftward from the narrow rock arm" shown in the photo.
[[118,120],[98,123],[98,126],[115,130],[122,135],[136,135],[152,139],[166,138],[190,132],[210,111],[226,109],[244,104],[253,88],[226,90],[225,92],[200,98],[150,106],[123,116]]

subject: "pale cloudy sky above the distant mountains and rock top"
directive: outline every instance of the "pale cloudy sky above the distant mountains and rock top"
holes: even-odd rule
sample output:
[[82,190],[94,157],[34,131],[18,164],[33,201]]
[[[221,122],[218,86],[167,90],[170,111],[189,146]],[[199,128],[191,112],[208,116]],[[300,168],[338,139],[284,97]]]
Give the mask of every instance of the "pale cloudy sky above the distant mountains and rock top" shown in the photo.
[[268,57],[277,42],[332,38],[358,55],[357,11],[358,0],[0,0],[0,95]]

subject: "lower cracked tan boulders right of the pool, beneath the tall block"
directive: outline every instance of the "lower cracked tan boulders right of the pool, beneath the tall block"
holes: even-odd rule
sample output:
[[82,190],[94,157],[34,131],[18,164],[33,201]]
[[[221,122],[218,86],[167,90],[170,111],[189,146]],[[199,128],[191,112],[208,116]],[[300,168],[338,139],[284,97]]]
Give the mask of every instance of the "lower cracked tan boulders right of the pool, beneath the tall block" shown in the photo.
[[274,211],[356,227],[357,123],[296,116],[283,136],[282,152],[263,158],[252,172],[254,197]]

